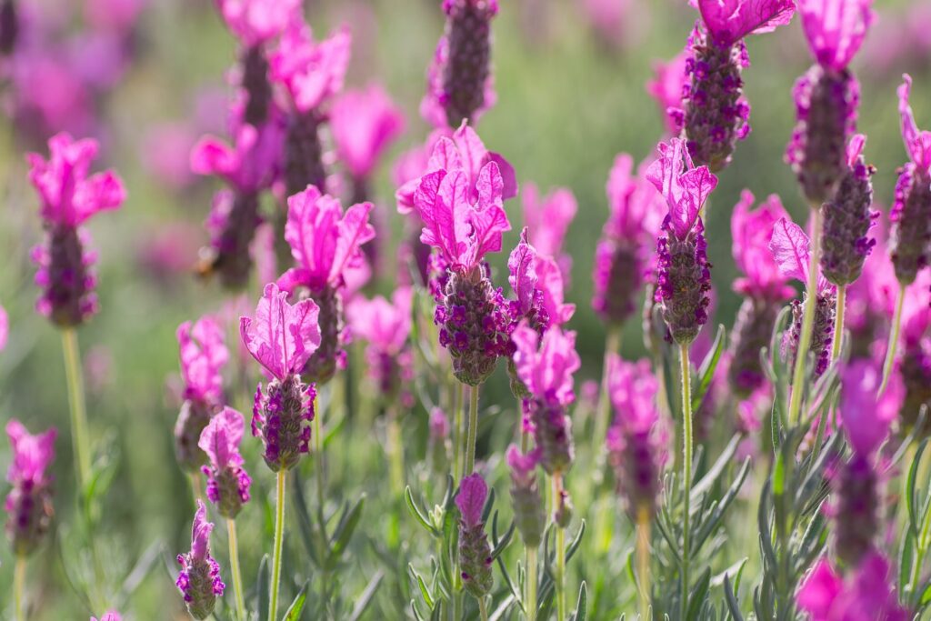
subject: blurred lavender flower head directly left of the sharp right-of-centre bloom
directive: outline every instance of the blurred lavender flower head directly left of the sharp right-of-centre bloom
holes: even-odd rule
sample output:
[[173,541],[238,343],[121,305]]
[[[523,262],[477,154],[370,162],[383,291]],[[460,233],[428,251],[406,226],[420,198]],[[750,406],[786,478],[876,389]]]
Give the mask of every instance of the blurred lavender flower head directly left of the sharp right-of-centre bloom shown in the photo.
[[637,310],[650,271],[654,237],[665,211],[663,198],[642,174],[632,176],[633,158],[619,154],[608,177],[608,220],[601,229],[592,271],[591,305],[603,321],[620,326]]

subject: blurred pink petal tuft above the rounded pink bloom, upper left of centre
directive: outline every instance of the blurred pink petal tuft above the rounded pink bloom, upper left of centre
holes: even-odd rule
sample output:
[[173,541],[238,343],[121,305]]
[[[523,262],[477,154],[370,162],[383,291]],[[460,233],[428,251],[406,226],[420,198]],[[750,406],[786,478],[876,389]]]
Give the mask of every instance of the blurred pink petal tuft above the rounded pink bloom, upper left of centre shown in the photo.
[[310,112],[343,89],[351,48],[348,28],[315,42],[304,20],[290,20],[269,56],[271,77],[287,89],[298,113]]

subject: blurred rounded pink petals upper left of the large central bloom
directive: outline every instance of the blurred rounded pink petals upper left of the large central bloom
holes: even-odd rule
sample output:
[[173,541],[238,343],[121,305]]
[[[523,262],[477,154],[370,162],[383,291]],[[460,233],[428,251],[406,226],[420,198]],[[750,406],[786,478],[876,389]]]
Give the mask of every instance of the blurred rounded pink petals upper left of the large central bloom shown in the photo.
[[372,84],[337,99],[330,124],[336,152],[359,183],[369,179],[379,156],[404,130],[404,115],[385,88]]

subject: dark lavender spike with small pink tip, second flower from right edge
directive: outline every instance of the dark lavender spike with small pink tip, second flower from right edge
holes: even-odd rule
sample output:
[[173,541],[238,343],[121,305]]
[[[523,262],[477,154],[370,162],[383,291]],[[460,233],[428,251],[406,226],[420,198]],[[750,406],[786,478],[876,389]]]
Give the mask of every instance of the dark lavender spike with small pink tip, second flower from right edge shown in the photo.
[[867,236],[880,212],[870,209],[870,177],[875,169],[863,161],[865,142],[862,134],[851,139],[837,191],[822,206],[821,271],[828,282],[837,286],[849,285],[860,277],[863,263],[876,245],[876,240]]

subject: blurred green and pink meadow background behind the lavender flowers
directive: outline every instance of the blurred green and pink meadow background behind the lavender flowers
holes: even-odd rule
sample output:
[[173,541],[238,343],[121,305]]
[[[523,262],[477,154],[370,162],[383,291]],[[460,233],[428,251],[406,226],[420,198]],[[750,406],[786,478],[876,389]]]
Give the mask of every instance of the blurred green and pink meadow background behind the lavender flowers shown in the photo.
[[[406,130],[385,157],[373,193],[396,233],[386,242],[384,277],[377,287],[387,292],[398,269],[394,249],[401,230],[390,169],[395,157],[423,142],[428,131],[417,106],[425,89],[425,67],[443,27],[439,0],[306,4],[318,36],[342,23],[352,30],[347,87],[381,82],[407,114]],[[125,612],[132,619],[185,618],[169,574],[174,554],[188,545],[193,513],[170,433],[178,407],[174,331],[182,321],[204,313],[237,317],[242,311],[216,284],[193,275],[197,249],[206,241],[202,222],[220,182],[192,176],[187,153],[200,133],[225,133],[230,94],[225,74],[236,60],[236,42],[209,0],[22,0],[20,5],[54,22],[58,33],[45,50],[47,58],[19,70],[7,59],[0,61],[6,111],[0,125],[0,304],[11,327],[9,343],[0,353],[0,422],[15,416],[33,430],[47,425],[62,430],[54,466],[60,528],[30,570],[36,618],[86,619],[89,613],[61,569],[74,521],[67,397],[59,335],[34,312],[37,290],[29,260],[42,232],[23,154],[44,152],[44,140],[58,129],[99,138],[101,165],[115,167],[128,185],[123,208],[90,225],[101,257],[102,308],[80,331],[92,436],[101,455],[115,463],[103,519],[107,572],[117,583],[155,542],[159,560],[125,604]],[[133,10],[126,17],[108,5]],[[854,67],[863,87],[859,129],[869,137],[867,160],[879,170],[875,196],[886,211],[896,169],[905,161],[896,98],[904,71],[915,79],[912,105],[919,126],[931,128],[931,4],[877,0],[875,8],[879,19]],[[116,23],[124,17],[126,23]],[[493,23],[498,102],[482,118],[479,134],[514,165],[520,182],[533,181],[544,190],[567,186],[578,199],[566,250],[573,258],[567,297],[577,304],[570,326],[579,333],[584,360],[580,379],[599,377],[604,347],[604,328],[589,300],[595,243],[608,213],[608,170],[619,152],[641,161],[663,135],[661,112],[644,85],[654,61],[668,60],[681,50],[694,20],[695,11],[684,0],[501,0]],[[116,42],[93,36],[111,28],[120,29]],[[720,175],[708,215],[717,291],[713,320],[728,326],[738,304],[730,290],[735,266],[729,214],[740,191],[749,188],[758,198],[779,194],[797,220],[806,212],[783,163],[794,123],[790,89],[810,63],[801,27],[795,20],[776,34],[750,37],[748,45],[752,65],[745,82],[752,133],[738,144],[734,163]],[[61,65],[58,74],[55,62]],[[521,222],[519,198],[506,208],[514,231],[505,246],[512,248]],[[499,284],[506,286],[501,272],[505,258],[506,253],[495,265]],[[257,291],[255,285],[246,309],[254,307]],[[630,323],[624,354],[638,358],[643,352],[641,329],[639,322]],[[479,454],[500,455],[513,425],[513,400],[500,371],[483,397],[488,412]],[[254,386],[251,378],[247,384]],[[236,385],[236,390],[250,391],[249,385]],[[359,386],[350,385],[350,390]],[[405,416],[408,460],[414,463],[423,457],[425,411],[418,406]],[[427,544],[413,539],[423,533],[412,528],[406,511],[385,489],[379,449],[383,433],[379,425],[344,425],[342,438],[328,449],[331,485],[337,498],[369,496],[351,560],[341,572],[344,590],[358,593],[382,573],[368,618],[401,618],[412,595],[406,562],[399,559],[416,558]],[[256,442],[247,439],[246,444]],[[254,453],[255,448],[247,451]],[[0,467],[8,459],[7,443],[0,443]],[[240,526],[247,584],[254,581],[260,547],[272,526],[268,494],[273,478],[257,462],[250,464],[256,503]],[[413,478],[417,472],[414,467]],[[573,479],[583,477],[573,474],[570,488]],[[505,493],[506,479],[496,480],[499,493]],[[225,542],[222,533],[217,536],[215,547],[223,560]],[[623,541],[617,545],[623,547]],[[300,566],[300,553],[294,543],[290,562],[295,567]],[[10,584],[11,561],[8,548],[0,547],[0,585]],[[605,593],[621,593],[629,587],[623,586],[627,576],[620,564],[616,559],[602,565],[579,563],[575,577],[586,572],[592,581],[595,572]],[[118,600],[114,589],[112,601]],[[0,602],[0,611],[11,610],[5,587],[0,587]]]

